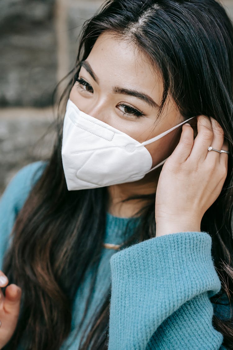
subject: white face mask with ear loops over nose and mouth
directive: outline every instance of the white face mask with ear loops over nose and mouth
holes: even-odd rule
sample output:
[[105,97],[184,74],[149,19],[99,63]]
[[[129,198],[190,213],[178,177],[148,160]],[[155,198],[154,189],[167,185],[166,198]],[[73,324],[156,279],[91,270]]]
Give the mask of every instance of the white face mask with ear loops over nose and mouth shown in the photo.
[[152,157],[144,146],[159,140],[188,120],[140,143],[103,121],[81,112],[69,99],[61,149],[68,190],[104,187],[142,179],[167,160],[166,158],[151,169]]

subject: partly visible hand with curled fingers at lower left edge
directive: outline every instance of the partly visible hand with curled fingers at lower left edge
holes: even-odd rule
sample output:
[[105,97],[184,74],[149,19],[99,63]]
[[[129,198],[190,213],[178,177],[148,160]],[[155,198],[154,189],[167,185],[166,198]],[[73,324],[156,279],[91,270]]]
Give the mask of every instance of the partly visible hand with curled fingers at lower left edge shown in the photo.
[[[7,284],[7,277],[0,270],[0,287],[5,287]],[[8,343],[16,328],[21,294],[21,288],[13,283],[6,287],[5,296],[0,289],[0,349]]]

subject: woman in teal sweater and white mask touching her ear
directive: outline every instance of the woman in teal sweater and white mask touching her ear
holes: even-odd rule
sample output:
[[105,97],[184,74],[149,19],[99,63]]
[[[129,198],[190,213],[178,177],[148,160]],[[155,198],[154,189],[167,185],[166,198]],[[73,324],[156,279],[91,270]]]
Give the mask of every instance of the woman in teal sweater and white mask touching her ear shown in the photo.
[[53,155],[2,197],[3,349],[233,349],[232,54],[215,0],[86,22]]

